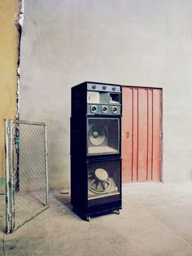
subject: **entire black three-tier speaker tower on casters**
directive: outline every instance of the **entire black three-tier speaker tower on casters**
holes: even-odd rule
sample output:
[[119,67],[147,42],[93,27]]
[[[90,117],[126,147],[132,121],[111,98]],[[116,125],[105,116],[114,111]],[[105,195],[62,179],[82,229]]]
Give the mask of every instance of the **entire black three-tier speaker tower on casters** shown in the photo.
[[72,87],[71,191],[87,220],[121,209],[121,86],[84,82]]

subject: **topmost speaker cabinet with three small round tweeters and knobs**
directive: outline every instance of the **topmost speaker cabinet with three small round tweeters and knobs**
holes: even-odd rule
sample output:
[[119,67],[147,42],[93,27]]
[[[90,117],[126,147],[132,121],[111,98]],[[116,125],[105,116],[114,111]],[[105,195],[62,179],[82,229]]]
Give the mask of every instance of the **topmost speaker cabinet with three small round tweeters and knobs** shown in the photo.
[[84,82],[72,87],[72,116],[121,116],[121,86]]

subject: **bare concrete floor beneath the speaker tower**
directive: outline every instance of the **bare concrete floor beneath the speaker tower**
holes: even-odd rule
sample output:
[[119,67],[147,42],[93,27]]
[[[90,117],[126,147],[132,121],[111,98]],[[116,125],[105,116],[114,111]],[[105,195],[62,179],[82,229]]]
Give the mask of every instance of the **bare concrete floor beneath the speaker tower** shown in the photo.
[[120,215],[88,223],[73,214],[69,195],[52,192],[49,210],[0,233],[0,255],[192,255],[192,183],[125,185],[123,199]]

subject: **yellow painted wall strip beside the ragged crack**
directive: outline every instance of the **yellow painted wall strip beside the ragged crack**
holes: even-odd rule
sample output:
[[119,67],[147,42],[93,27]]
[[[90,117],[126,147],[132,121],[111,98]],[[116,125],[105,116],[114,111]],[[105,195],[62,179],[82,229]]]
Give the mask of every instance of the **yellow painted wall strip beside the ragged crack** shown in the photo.
[[19,0],[0,0],[0,186],[4,177],[4,119],[15,118]]

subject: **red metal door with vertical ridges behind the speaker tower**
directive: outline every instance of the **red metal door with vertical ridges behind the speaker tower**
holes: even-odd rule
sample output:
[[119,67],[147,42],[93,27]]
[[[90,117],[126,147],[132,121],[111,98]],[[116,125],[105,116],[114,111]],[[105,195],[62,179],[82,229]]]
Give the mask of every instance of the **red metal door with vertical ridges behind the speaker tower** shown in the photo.
[[162,90],[123,87],[123,183],[161,181]]

